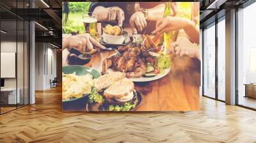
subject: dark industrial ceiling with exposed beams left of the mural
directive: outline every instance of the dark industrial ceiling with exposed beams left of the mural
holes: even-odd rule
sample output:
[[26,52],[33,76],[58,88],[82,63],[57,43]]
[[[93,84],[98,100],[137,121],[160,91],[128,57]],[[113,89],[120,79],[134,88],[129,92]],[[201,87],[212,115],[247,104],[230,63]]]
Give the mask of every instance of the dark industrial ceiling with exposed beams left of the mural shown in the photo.
[[[36,22],[36,41],[51,42],[61,47],[61,4],[60,0],[1,0],[1,29],[7,32],[4,36],[22,36],[23,22],[33,20]],[[13,22],[16,20],[17,27]]]

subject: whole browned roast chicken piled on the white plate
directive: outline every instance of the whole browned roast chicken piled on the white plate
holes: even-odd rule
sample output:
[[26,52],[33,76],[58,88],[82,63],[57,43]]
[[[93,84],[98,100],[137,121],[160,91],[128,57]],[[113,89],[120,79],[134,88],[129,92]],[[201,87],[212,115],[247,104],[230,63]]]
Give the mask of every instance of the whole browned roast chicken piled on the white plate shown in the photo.
[[142,77],[147,73],[146,63],[150,62],[154,65],[154,59],[150,57],[148,51],[156,51],[157,44],[163,38],[163,35],[156,35],[152,40],[148,35],[142,36],[144,46],[126,45],[118,47],[120,53],[104,59],[102,63],[102,75],[106,74],[108,68],[118,72],[125,72],[127,78]]

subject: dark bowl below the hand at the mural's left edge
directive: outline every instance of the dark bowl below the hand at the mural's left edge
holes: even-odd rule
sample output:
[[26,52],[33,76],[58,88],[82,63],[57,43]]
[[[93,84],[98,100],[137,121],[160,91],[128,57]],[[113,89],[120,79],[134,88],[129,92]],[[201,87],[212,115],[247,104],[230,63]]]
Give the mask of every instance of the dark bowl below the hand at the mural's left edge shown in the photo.
[[69,50],[70,54],[68,54],[68,64],[70,65],[84,65],[91,61],[92,55],[89,53],[82,53],[78,50],[72,48]]

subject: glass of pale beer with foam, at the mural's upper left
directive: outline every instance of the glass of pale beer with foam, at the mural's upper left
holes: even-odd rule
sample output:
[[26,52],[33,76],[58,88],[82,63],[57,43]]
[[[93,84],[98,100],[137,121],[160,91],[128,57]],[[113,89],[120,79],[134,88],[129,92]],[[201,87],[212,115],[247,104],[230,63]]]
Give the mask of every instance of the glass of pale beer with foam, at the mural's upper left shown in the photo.
[[85,33],[89,33],[95,40],[97,40],[97,15],[92,12],[83,13],[83,23]]

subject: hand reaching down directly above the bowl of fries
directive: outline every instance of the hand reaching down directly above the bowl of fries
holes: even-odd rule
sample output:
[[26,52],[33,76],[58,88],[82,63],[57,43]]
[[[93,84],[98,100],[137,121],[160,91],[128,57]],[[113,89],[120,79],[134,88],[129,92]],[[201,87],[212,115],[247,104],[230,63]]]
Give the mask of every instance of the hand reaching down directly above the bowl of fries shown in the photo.
[[118,26],[122,27],[124,21],[124,11],[118,6],[109,8],[108,11],[108,20],[116,21],[118,20]]

